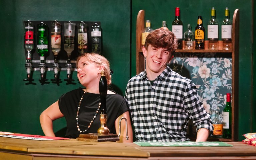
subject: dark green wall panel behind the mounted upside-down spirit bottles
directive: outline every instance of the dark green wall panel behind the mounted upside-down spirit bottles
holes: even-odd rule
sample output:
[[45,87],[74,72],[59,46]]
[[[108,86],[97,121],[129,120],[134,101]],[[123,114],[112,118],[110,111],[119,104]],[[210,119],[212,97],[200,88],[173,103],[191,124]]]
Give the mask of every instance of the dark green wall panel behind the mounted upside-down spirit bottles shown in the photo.
[[[123,95],[130,78],[130,8],[127,0],[0,0],[0,131],[42,135],[41,112],[65,92],[82,87],[75,72],[76,85],[41,85],[39,71],[33,74],[36,85],[25,85],[23,21],[100,21],[102,54],[114,70],[113,88]],[[52,79],[53,71],[46,78]],[[60,78],[66,79],[66,71]],[[59,119],[54,130],[65,125],[65,119]]]

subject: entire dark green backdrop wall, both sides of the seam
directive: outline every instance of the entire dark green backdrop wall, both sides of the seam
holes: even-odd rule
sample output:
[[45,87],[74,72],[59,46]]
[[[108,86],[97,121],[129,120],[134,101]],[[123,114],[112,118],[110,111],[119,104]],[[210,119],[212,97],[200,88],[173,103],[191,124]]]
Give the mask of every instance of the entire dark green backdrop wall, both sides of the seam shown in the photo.
[[[77,80],[76,85],[63,82],[60,86],[53,83],[42,86],[38,82],[38,71],[33,75],[37,85],[25,85],[23,21],[100,21],[104,35],[103,55],[110,60],[114,70],[113,88],[124,94],[127,81],[136,73],[135,30],[139,10],[145,10],[145,18],[150,19],[152,28],[156,29],[163,20],[171,27],[175,7],[180,7],[184,26],[190,23],[194,29],[198,15],[202,15],[206,27],[211,7],[216,8],[220,22],[227,6],[231,15],[236,8],[240,9],[239,135],[256,132],[255,94],[252,96],[256,89],[255,86],[252,88],[255,60],[253,68],[251,65],[254,53],[252,3],[253,0],[0,0],[0,131],[42,135],[40,113],[63,93],[81,86]],[[52,71],[47,73],[47,78],[53,78]],[[60,78],[66,78],[64,71],[60,73]],[[55,131],[64,126],[64,119],[54,122]],[[239,136],[239,140],[242,139]]]

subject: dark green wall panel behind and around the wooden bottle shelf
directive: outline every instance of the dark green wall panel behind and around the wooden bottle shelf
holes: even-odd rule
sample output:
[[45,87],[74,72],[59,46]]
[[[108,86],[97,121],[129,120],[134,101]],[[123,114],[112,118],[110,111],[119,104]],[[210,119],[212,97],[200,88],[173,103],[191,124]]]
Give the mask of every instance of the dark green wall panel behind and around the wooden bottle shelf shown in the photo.
[[[211,8],[216,9],[216,18],[220,24],[224,18],[225,7],[230,10],[231,20],[235,9],[240,10],[240,39],[239,39],[239,140],[244,139],[242,134],[252,132],[251,112],[251,87],[252,87],[252,0],[133,0],[132,1],[132,63],[131,75],[136,74],[136,18],[139,10],[145,10],[145,20],[151,20],[151,27],[161,27],[162,21],[167,22],[171,30],[172,21],[175,18],[175,8],[180,7],[181,20],[184,29],[191,24],[195,30],[198,15],[203,18],[203,25],[207,29],[207,22],[211,16]],[[220,34],[219,34],[220,35]],[[207,35],[206,35],[207,37]],[[219,36],[221,37],[221,36]],[[254,98],[255,99],[255,98]],[[255,102],[254,102],[255,104]],[[255,111],[255,110],[254,110]],[[254,112],[255,115],[255,112]],[[254,117],[255,120],[255,117]],[[254,128],[255,132],[255,128]]]

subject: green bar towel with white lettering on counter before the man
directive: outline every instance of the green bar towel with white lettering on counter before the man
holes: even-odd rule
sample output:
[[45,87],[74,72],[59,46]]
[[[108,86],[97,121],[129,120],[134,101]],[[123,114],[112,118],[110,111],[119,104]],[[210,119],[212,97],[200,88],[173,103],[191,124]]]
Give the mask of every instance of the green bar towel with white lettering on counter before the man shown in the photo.
[[163,147],[213,147],[213,146],[233,146],[224,142],[133,142],[139,146],[163,146]]

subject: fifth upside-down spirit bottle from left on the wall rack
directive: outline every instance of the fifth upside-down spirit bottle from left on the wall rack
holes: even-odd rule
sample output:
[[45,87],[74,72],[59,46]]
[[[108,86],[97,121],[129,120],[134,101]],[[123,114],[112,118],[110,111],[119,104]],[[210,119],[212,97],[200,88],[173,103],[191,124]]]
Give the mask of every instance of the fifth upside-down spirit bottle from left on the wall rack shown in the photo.
[[77,43],[78,43],[78,52],[80,54],[87,52],[87,24],[81,21],[77,29]]

